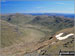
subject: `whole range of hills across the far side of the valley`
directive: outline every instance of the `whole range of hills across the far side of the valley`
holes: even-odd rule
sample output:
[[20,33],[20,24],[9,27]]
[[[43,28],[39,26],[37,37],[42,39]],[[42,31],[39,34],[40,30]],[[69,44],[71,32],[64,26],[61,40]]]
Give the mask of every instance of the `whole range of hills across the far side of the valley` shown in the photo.
[[50,36],[55,34],[58,30],[70,28],[74,26],[74,19],[63,16],[48,16],[48,15],[29,15],[29,14],[9,14],[2,15],[2,20],[20,27],[28,27],[35,30],[40,30]]

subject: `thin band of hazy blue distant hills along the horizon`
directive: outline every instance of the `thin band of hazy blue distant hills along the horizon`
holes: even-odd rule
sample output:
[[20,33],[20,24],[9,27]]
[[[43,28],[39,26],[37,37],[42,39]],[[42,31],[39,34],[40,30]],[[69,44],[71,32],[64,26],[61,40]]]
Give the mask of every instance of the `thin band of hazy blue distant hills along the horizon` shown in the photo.
[[48,15],[48,16],[64,16],[67,18],[72,18],[74,19],[74,14],[64,14],[64,13],[24,13],[25,15],[34,15],[34,16],[39,16],[39,15]]

